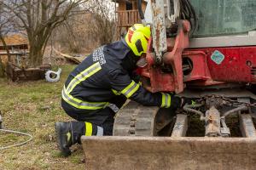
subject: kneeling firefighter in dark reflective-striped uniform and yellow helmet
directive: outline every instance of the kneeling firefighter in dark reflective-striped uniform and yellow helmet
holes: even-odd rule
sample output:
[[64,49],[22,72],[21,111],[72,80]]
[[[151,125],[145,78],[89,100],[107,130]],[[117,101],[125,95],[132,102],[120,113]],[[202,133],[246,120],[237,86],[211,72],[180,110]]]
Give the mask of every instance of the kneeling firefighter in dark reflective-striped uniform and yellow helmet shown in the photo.
[[182,99],[171,94],[152,94],[132,79],[137,61],[148,47],[150,28],[132,26],[124,39],[97,48],[67,77],[61,106],[74,122],[56,122],[58,148],[64,156],[82,135],[112,135],[115,113],[126,99],[142,105],[175,109]]

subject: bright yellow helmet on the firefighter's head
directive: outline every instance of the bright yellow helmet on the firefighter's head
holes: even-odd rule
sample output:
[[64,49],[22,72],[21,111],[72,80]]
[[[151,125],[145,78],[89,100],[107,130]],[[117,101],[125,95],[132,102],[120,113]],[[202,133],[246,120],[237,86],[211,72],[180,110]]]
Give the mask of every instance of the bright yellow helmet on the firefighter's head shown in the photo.
[[141,56],[147,52],[150,33],[149,26],[144,26],[143,24],[135,24],[129,28],[125,35],[125,42],[135,55]]

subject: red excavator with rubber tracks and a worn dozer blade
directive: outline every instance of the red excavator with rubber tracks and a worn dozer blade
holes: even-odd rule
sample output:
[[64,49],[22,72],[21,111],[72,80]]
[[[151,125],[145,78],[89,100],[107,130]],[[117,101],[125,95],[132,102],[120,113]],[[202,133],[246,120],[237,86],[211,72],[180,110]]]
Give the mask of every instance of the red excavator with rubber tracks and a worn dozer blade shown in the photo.
[[88,169],[255,169],[256,1],[148,0],[152,37],[137,72],[151,92],[195,101],[129,102],[112,137],[82,137]]

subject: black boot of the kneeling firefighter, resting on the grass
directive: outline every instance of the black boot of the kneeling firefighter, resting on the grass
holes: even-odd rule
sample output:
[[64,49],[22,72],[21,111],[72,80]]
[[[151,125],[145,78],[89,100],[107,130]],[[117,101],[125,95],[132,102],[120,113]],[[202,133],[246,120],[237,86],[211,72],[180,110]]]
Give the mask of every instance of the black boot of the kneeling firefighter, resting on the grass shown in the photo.
[[55,134],[59,150],[63,156],[70,156],[69,147],[73,144],[71,122],[55,122]]

